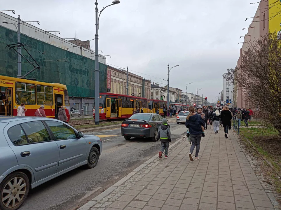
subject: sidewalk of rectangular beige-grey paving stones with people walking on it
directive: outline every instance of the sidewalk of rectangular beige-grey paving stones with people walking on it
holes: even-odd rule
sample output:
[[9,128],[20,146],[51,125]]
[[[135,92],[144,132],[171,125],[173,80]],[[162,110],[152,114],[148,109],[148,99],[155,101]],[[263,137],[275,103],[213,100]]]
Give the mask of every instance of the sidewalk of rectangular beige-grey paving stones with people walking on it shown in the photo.
[[184,138],[171,148],[168,159],[156,158],[83,210],[273,210],[232,130],[228,139],[223,130],[205,133],[200,160],[189,160],[190,144]]

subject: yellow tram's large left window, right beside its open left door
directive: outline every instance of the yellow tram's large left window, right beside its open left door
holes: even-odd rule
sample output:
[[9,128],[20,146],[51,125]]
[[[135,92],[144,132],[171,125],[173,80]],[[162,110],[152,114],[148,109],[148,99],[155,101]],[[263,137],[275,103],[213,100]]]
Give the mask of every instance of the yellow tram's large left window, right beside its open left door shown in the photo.
[[31,104],[35,105],[35,85],[25,84],[25,83],[16,83],[16,103],[21,104]]

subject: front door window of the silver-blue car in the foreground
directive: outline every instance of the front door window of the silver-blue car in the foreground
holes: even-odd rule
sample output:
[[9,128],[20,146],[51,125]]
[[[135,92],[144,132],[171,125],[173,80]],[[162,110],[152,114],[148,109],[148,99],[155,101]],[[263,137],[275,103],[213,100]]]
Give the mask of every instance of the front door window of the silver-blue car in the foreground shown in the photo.
[[46,120],[45,122],[50,127],[56,140],[76,138],[75,131],[68,125],[63,124],[62,122],[51,120]]

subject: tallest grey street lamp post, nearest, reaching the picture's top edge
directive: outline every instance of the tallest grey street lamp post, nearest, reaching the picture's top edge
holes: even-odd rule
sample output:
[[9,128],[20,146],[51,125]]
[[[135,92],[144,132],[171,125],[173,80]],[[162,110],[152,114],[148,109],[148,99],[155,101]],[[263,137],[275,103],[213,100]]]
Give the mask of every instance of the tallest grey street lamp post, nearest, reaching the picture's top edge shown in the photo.
[[[112,1],[112,4],[102,8],[100,11],[100,14],[102,11],[114,4],[120,3],[119,0]],[[96,0],[96,13],[95,13],[95,19],[96,19],[96,33],[95,33],[95,125],[100,124],[100,69],[99,69],[99,35],[98,35],[98,29],[99,29],[99,20],[100,15],[98,15],[98,8],[97,8],[97,0]]]

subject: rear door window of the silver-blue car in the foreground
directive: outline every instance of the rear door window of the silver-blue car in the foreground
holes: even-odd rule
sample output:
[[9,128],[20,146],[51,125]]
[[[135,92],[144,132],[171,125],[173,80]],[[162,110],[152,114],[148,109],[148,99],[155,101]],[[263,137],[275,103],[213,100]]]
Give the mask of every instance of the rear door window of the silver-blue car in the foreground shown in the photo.
[[50,136],[42,121],[26,122],[21,124],[29,143],[50,141]]

